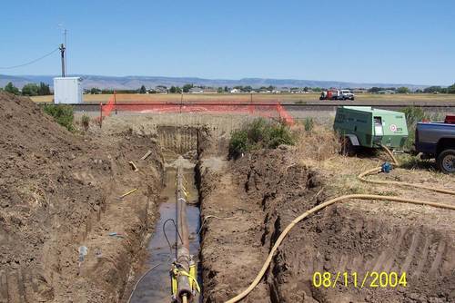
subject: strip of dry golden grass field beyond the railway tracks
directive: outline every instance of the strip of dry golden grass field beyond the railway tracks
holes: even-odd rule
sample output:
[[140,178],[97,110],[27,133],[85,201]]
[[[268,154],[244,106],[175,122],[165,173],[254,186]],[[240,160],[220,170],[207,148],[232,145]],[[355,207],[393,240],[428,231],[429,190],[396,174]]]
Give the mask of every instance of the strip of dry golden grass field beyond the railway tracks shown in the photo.
[[[84,102],[86,103],[106,103],[112,94],[85,94]],[[53,95],[31,97],[36,103],[52,102]],[[281,102],[281,103],[313,103],[319,102],[319,93],[304,93],[304,94],[260,94],[254,93],[202,93],[183,95],[183,102]],[[118,103],[128,102],[169,102],[179,103],[182,100],[182,95],[178,93],[154,93],[154,94],[139,94],[127,93],[117,94],[116,101]],[[453,103],[455,104],[455,94],[431,94],[431,93],[412,93],[412,94],[371,94],[360,93],[356,95],[356,102],[359,103],[380,103],[383,102],[398,102],[398,103]],[[327,101],[322,101],[327,102]]]

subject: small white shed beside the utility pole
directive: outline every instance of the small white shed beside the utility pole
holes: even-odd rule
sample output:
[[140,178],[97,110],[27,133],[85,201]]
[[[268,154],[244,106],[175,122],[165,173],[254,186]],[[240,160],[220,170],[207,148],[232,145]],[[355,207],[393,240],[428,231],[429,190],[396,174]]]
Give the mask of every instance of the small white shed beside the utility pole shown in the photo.
[[82,92],[80,77],[54,78],[54,103],[82,103]]

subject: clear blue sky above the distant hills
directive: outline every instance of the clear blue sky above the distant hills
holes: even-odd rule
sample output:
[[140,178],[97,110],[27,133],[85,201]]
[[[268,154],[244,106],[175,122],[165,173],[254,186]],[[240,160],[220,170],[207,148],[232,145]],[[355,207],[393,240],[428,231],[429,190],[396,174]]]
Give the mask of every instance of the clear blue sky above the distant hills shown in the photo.
[[[455,1],[5,1],[0,66],[101,75],[455,82]],[[5,74],[60,73],[58,54]]]

